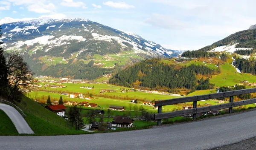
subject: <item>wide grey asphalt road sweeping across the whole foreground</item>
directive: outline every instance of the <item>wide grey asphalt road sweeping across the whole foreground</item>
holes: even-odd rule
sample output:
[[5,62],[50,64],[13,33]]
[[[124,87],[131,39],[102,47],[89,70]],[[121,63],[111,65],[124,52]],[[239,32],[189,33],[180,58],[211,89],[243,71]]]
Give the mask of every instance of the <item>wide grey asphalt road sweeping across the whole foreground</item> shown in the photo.
[[146,130],[0,136],[1,150],[207,150],[256,136],[256,111]]

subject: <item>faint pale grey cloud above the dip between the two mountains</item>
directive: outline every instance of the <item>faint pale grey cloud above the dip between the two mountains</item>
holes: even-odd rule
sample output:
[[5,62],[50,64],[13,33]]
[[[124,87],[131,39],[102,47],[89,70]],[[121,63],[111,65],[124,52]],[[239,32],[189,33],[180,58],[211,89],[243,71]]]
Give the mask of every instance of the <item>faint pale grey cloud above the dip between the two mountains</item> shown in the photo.
[[153,16],[147,18],[145,23],[157,26],[160,28],[181,30],[186,28],[186,23],[182,20],[178,20],[175,17],[163,14],[153,14]]

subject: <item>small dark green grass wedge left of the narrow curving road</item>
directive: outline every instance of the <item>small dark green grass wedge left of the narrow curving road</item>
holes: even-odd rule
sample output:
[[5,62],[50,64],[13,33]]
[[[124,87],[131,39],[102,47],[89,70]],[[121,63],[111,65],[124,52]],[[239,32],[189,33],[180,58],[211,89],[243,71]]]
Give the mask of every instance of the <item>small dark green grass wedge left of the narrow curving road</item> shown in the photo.
[[17,135],[18,131],[3,110],[0,110],[0,116],[0,135]]

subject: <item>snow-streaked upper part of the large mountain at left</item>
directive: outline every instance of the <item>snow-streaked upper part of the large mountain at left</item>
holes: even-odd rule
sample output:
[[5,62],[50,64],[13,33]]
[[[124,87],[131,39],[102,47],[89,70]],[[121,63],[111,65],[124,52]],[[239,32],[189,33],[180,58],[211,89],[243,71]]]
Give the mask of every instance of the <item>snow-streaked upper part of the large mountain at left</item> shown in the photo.
[[[52,48],[61,45],[69,47],[69,45],[73,45],[72,43],[77,43],[81,45],[79,55],[82,55],[83,53],[86,54],[88,50],[99,52],[102,48],[110,49],[103,45],[101,48],[89,49],[88,45],[95,45],[98,42],[106,42],[107,45],[111,45],[114,42],[114,45],[119,46],[119,51],[129,50],[149,57],[173,57],[179,54],[176,52],[170,53],[166,48],[145,40],[132,32],[116,30],[80,18],[52,19],[42,17],[16,20],[8,17],[1,20],[0,24],[2,24],[3,33],[1,40],[5,42],[6,50],[21,50],[20,47],[23,45],[32,46],[38,43],[37,47],[42,47],[44,52],[48,52]],[[35,47],[33,53],[36,53],[39,49]]]

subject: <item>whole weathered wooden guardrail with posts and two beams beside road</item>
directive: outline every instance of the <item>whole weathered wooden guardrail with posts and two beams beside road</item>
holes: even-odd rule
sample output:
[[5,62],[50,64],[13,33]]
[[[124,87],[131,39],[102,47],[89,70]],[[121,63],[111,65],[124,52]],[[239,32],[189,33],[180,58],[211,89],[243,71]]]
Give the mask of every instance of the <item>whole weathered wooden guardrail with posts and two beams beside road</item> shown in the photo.
[[[158,100],[158,101],[155,101],[155,107],[158,106],[158,111],[157,113],[154,114],[154,119],[157,120],[157,125],[161,125],[161,119],[172,118],[175,116],[193,114],[193,119],[196,119],[197,113],[204,113],[211,110],[220,110],[225,108],[229,108],[229,113],[232,113],[233,107],[256,103],[256,99],[247,99],[239,102],[233,102],[233,96],[247,94],[247,93],[256,93],[256,88],[212,93],[212,94],[199,95],[199,96],[189,96],[189,97],[182,97],[182,98],[175,98],[175,99]],[[197,101],[207,100],[207,99],[217,99],[222,97],[230,97],[230,102],[225,104],[220,104],[220,105],[212,105],[212,106],[197,108]],[[168,113],[162,113],[162,106],[173,105],[173,104],[184,103],[184,102],[193,102],[193,108],[186,109],[186,110],[177,110],[177,111],[168,112]]]

